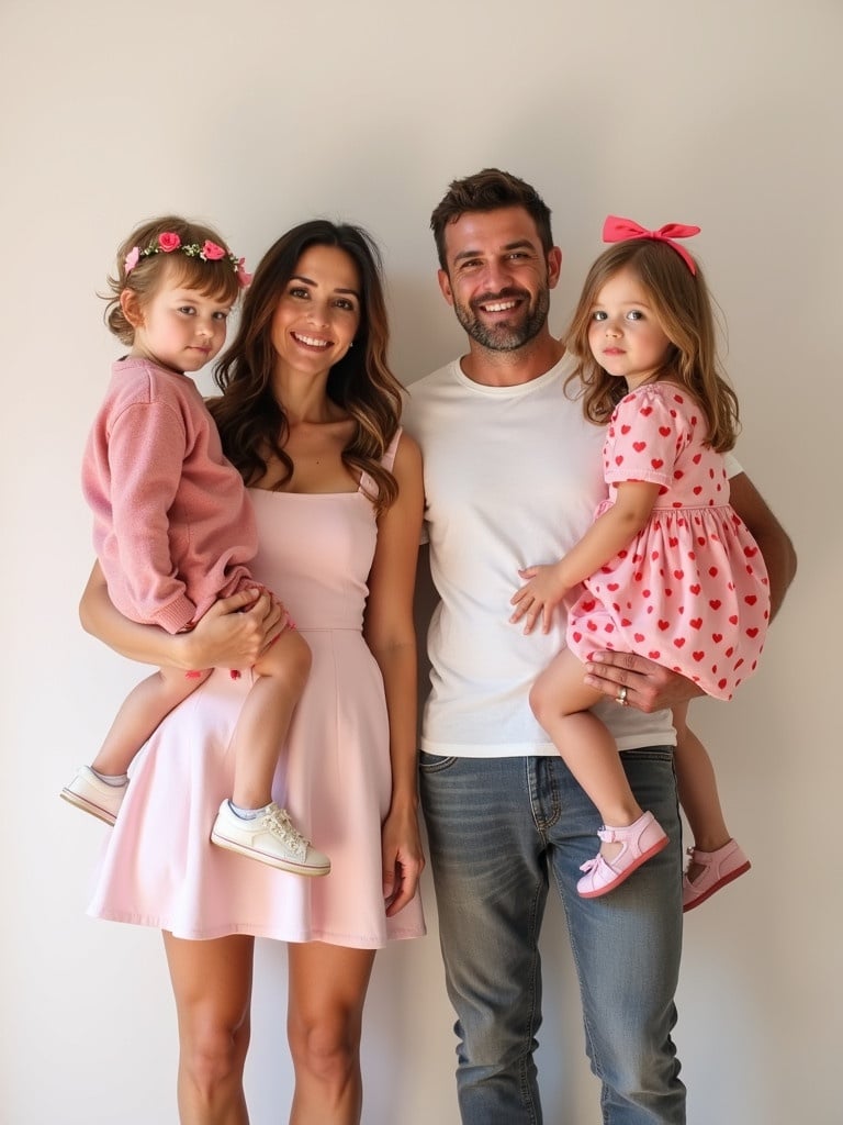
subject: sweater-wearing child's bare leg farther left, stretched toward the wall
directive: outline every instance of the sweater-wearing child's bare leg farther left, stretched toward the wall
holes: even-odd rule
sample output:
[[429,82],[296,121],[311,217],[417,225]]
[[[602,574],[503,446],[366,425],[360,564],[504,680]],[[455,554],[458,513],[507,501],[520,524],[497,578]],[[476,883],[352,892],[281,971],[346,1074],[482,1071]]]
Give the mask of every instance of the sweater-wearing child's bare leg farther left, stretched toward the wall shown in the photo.
[[106,776],[125,774],[132,759],[173,708],[203,683],[210,670],[160,668],[126,696],[91,768]]

